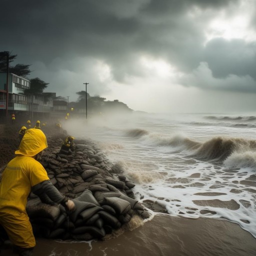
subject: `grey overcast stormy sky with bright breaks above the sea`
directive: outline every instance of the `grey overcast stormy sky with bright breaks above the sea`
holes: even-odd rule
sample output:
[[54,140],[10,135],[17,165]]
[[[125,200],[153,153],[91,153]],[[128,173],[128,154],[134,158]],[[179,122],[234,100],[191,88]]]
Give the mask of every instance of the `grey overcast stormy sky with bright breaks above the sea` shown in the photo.
[[1,0],[0,51],[57,96],[256,111],[255,0]]

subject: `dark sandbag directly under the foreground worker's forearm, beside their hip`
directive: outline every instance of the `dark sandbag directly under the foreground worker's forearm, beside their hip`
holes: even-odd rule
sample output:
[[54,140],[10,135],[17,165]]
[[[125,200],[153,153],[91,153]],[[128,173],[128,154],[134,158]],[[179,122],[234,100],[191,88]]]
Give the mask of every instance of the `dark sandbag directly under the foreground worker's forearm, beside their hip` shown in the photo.
[[58,207],[46,203],[40,203],[31,207],[26,207],[26,212],[30,218],[45,217],[50,218],[53,221],[60,214],[60,210]]

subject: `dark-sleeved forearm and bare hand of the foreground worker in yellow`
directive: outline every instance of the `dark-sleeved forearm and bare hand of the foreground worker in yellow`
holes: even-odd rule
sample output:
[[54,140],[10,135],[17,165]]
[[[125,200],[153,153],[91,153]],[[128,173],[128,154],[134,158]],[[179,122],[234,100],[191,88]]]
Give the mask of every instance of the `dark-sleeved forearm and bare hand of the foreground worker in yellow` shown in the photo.
[[74,209],[73,201],[62,195],[49,180],[44,180],[32,186],[31,191],[34,194],[38,195],[41,198],[42,202],[48,204],[52,204],[52,202],[61,203],[69,210]]

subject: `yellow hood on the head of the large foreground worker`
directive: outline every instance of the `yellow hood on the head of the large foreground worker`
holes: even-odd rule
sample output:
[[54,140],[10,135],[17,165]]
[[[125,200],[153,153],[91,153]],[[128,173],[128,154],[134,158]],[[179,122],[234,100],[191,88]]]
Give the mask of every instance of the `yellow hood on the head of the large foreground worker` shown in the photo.
[[25,132],[15,154],[34,156],[46,147],[48,145],[44,133],[40,129],[31,128]]

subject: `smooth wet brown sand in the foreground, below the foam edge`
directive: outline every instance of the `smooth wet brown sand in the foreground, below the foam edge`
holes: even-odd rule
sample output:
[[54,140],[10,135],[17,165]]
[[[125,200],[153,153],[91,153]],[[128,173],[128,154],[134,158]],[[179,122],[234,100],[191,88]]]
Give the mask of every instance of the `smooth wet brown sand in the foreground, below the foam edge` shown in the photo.
[[[252,256],[256,239],[238,224],[210,218],[188,219],[155,215],[142,226],[104,241],[36,239],[36,256],[128,256],[128,255],[239,255]],[[11,248],[3,256],[15,255]]]

